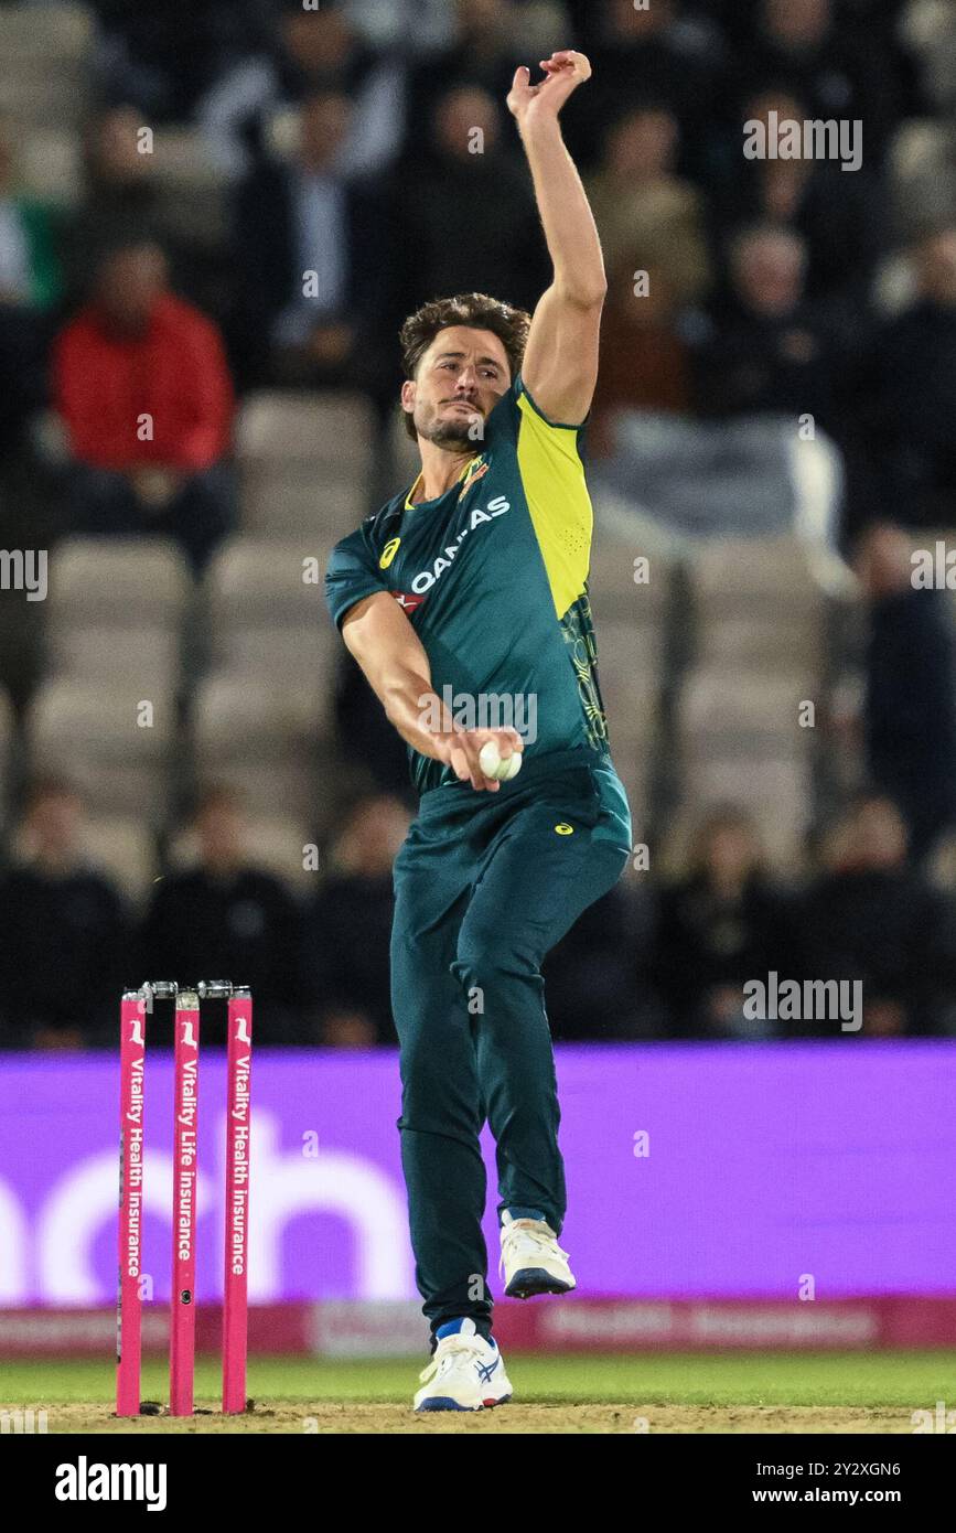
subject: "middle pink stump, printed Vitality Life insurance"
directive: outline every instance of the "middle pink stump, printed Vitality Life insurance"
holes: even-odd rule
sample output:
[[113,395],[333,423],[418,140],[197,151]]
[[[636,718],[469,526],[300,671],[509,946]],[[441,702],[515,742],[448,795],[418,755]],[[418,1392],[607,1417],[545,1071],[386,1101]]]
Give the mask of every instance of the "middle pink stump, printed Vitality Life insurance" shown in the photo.
[[196,1170],[199,1127],[199,996],[176,996],[173,1088],[173,1282],[170,1415],[192,1416],[196,1361]]

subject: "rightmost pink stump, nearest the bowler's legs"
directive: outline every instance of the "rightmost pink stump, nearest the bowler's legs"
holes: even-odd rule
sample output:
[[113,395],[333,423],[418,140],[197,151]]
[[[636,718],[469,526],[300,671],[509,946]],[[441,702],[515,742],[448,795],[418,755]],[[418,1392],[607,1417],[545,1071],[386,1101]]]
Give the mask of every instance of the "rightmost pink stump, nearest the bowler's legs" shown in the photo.
[[245,1410],[248,1199],[253,1069],[253,998],[228,1003],[225,1127],[225,1277],[222,1308],[222,1410]]

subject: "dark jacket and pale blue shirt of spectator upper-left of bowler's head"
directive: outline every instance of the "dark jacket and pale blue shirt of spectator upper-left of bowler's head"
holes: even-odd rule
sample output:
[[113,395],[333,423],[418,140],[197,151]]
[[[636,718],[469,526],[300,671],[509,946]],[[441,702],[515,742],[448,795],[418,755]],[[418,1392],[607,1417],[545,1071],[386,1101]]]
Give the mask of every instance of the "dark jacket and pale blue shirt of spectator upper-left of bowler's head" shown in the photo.
[[[323,377],[316,363],[311,376],[294,382],[374,391],[391,268],[385,202],[371,182],[309,176],[276,161],[245,178],[236,195],[234,248],[242,262],[231,327],[245,383],[282,382],[283,348],[305,348],[319,323],[343,323],[354,340],[339,371]],[[328,259],[316,236],[325,241]],[[316,296],[303,288],[306,271],[317,273]]]

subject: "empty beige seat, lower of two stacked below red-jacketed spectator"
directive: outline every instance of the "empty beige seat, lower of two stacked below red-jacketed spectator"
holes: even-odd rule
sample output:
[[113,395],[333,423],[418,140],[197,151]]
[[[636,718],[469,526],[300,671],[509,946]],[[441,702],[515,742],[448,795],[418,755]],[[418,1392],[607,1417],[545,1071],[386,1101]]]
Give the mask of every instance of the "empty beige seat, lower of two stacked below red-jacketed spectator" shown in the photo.
[[93,816],[141,816],[153,826],[167,816],[173,737],[170,696],[69,678],[46,681],[26,719],[34,774],[74,782]]

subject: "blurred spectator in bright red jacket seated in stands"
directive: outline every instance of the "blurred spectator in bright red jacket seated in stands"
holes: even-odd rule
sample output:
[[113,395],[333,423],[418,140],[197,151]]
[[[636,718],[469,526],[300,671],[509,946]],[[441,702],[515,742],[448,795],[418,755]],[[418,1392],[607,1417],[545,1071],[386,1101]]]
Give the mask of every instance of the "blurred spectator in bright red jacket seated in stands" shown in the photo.
[[169,291],[147,241],[103,256],[63,330],[57,406],[75,458],[70,527],[176,538],[201,570],[233,524],[233,386],[216,327]]

